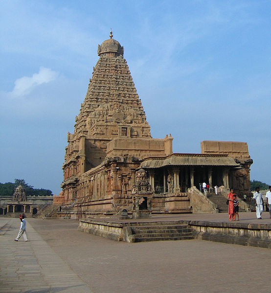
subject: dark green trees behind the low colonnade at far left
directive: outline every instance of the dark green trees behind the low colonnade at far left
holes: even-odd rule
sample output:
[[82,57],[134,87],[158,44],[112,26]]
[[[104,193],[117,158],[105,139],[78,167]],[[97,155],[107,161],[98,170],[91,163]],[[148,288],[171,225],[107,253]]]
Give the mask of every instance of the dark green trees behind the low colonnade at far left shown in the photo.
[[22,185],[26,196],[39,195],[39,196],[51,196],[52,191],[43,188],[34,188],[25,182],[24,179],[15,179],[14,183],[6,182],[0,183],[0,196],[12,196],[14,194],[15,188]]

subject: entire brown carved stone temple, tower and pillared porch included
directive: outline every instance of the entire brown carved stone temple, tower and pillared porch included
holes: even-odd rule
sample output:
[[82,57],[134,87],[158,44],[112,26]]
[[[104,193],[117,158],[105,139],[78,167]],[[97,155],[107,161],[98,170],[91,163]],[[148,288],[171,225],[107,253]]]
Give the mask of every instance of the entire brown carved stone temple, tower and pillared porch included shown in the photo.
[[[135,174],[146,171],[154,196],[152,210],[192,212],[188,190],[209,182],[249,192],[252,163],[245,142],[203,141],[201,154],[172,152],[173,137],[153,138],[141,101],[113,38],[98,45],[87,94],[74,133],[68,133],[63,164],[62,211],[83,217],[132,210]],[[55,199],[55,203],[57,198]]]

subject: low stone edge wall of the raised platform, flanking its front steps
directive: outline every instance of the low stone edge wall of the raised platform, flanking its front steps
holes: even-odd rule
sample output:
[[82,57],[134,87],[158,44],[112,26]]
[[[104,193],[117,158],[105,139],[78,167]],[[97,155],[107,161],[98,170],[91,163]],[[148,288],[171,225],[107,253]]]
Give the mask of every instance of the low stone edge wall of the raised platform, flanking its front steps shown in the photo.
[[132,226],[189,225],[195,239],[228,244],[271,248],[271,224],[211,221],[107,221],[82,219],[78,230],[115,241],[135,242]]

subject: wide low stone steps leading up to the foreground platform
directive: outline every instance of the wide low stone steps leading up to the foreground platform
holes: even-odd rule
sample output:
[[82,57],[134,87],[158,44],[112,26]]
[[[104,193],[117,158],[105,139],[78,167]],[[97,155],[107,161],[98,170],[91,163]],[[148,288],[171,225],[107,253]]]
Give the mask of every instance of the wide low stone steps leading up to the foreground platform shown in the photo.
[[185,224],[142,223],[131,228],[135,235],[135,242],[194,239],[192,230]]

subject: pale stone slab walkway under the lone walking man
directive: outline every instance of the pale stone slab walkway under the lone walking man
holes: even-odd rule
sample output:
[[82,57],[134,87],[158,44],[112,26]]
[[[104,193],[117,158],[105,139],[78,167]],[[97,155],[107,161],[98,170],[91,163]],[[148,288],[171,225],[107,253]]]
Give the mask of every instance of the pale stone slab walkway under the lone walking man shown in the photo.
[[14,241],[19,219],[0,219],[0,223],[0,293],[91,293],[28,221],[28,242],[23,237]]

